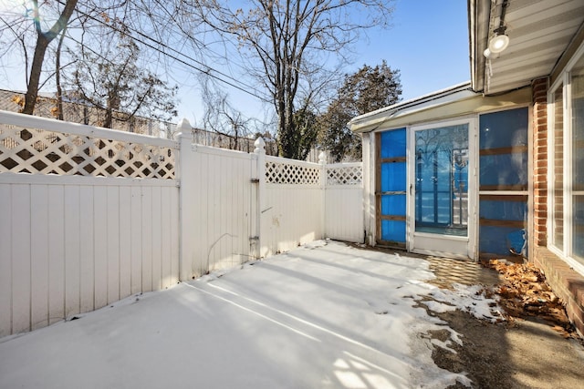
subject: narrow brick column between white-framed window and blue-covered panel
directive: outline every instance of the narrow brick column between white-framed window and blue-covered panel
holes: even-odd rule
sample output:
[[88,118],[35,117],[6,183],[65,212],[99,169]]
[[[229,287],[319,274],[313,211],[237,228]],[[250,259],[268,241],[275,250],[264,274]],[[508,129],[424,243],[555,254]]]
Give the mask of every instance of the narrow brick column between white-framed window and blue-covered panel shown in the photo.
[[547,245],[547,78],[531,85],[533,94],[533,243]]

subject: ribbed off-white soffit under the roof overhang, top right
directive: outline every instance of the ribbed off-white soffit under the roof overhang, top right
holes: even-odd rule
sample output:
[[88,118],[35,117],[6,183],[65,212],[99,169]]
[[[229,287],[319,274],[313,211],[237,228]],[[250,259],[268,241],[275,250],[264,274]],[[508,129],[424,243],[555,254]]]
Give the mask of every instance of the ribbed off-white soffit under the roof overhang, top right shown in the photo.
[[549,76],[584,23],[584,0],[509,0],[504,18],[509,46],[483,61],[479,56],[488,38],[480,39],[478,32],[485,32],[488,23],[486,34],[494,35],[500,24],[503,0],[473,1],[477,8],[481,3],[491,3],[488,20],[485,14],[469,15],[473,60],[484,64],[484,68],[477,69],[484,73],[475,75],[474,87],[486,95],[525,87],[536,78]]

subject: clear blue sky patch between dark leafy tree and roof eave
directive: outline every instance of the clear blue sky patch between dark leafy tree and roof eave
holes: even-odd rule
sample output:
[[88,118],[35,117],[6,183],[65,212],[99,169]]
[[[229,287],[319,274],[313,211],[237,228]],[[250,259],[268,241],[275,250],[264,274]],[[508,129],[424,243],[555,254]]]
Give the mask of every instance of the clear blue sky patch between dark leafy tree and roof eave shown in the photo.
[[468,81],[467,20],[466,0],[398,0],[393,27],[370,37],[361,62],[400,69],[404,100]]

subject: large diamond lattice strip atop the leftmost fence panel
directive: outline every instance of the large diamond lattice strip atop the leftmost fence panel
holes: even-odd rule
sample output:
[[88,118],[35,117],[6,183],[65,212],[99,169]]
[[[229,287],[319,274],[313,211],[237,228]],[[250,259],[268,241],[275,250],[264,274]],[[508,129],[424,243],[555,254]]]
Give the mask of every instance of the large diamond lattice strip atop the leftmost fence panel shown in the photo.
[[174,179],[175,150],[0,125],[0,173]]

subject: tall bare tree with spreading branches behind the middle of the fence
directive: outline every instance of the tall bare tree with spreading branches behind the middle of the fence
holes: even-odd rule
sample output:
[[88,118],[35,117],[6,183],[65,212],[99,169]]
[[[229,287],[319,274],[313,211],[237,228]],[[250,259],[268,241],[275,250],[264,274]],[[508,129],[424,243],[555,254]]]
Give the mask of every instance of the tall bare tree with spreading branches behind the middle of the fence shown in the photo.
[[[249,59],[248,73],[269,91],[277,114],[279,153],[297,155],[297,101],[312,98],[311,78],[327,72],[323,65],[344,59],[360,33],[387,26],[387,0],[250,0],[246,9],[227,2],[198,2],[204,23],[224,36],[235,36]],[[352,15],[352,17],[351,17]],[[308,88],[309,89],[309,88]],[[306,106],[305,103],[303,103]]]

